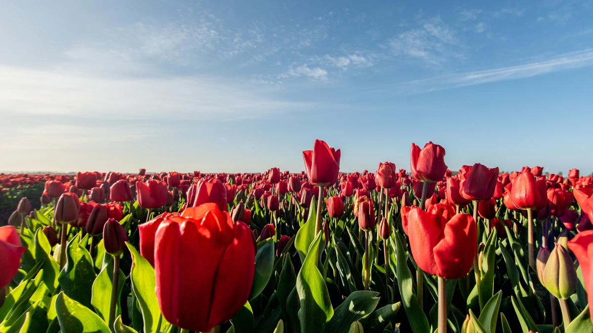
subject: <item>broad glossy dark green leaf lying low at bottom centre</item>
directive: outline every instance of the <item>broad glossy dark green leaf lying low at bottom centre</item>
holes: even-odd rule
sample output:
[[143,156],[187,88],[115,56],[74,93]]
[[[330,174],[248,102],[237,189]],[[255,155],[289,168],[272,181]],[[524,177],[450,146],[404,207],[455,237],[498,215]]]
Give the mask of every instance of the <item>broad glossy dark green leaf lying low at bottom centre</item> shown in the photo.
[[341,333],[346,331],[353,322],[372,313],[379,303],[379,293],[370,291],[356,291],[350,294],[340,306],[334,310],[334,315],[327,324],[327,333]]

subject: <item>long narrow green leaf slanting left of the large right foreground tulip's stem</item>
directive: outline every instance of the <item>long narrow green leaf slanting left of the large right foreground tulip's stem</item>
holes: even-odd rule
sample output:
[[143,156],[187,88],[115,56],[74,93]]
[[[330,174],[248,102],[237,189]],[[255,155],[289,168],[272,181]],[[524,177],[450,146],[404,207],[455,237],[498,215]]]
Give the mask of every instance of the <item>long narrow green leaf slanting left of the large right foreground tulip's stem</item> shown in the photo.
[[400,290],[401,303],[404,306],[404,310],[406,310],[406,316],[410,322],[412,331],[414,333],[429,332],[431,329],[428,319],[418,304],[416,294],[414,294],[412,273],[410,273],[410,268],[406,264],[406,254],[397,231],[390,237],[390,241],[391,247],[397,256],[397,286]]

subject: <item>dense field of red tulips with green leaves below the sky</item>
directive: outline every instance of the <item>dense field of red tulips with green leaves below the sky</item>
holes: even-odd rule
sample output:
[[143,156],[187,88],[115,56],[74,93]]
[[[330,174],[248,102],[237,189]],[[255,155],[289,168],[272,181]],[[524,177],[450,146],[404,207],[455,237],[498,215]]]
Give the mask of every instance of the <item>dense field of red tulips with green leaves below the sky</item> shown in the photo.
[[593,332],[591,175],[341,155],[0,175],[0,332]]

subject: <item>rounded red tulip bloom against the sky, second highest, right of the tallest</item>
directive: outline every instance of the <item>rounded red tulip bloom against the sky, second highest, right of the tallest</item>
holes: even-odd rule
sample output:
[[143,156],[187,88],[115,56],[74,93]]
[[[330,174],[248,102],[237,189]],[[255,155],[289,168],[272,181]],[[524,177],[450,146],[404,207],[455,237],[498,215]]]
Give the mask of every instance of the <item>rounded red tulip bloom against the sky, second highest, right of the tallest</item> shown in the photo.
[[410,168],[412,176],[417,180],[438,182],[445,177],[447,165],[445,164],[445,149],[429,142],[420,149],[412,143],[410,150]]

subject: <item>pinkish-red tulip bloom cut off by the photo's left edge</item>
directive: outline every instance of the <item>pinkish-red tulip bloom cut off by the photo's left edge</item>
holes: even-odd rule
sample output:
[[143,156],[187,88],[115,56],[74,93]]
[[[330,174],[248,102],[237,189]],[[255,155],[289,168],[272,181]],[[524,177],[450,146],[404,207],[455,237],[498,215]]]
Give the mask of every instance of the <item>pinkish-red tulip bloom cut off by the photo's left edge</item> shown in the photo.
[[21,239],[14,226],[0,227],[0,262],[2,262],[0,286],[7,286],[17,275],[18,266],[21,264],[21,255],[26,249],[27,246],[21,246]]

